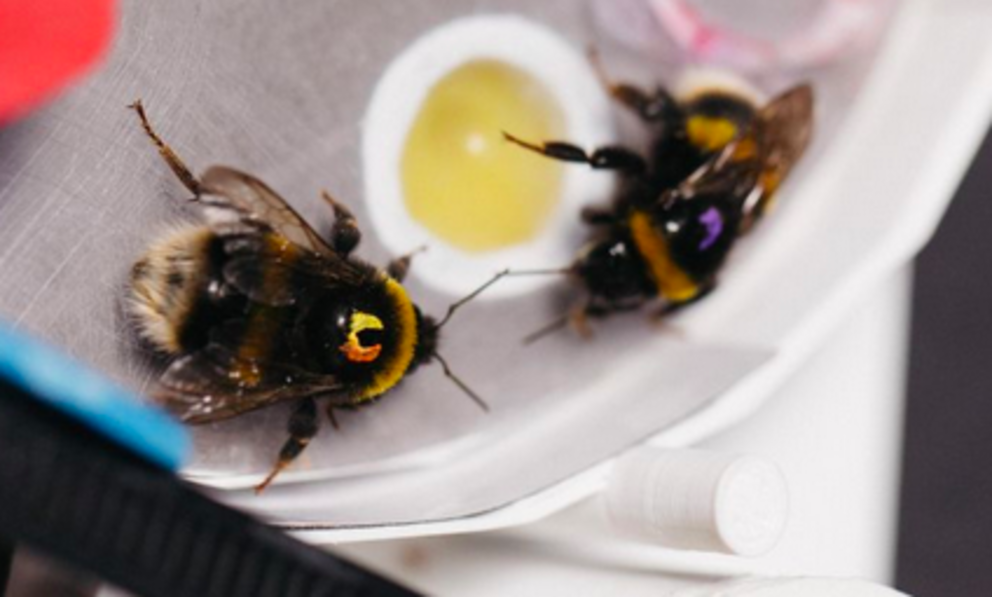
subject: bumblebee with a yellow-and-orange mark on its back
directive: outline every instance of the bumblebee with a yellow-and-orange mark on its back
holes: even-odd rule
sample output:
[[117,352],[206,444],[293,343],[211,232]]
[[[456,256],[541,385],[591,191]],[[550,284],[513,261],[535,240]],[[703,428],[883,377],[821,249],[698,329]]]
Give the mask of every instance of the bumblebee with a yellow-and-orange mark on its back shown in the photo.
[[325,242],[261,180],[225,166],[194,176],[141,102],[131,107],[204,220],[154,242],[132,269],[129,305],[139,333],[173,357],[156,397],[190,424],[294,402],[289,439],[257,492],[316,435],[318,401],[337,427],[334,409],[369,404],[437,360],[487,409],[438,354],[438,335],[499,276],[437,321],[401,285],[412,254],[385,270],[353,257],[360,230],[329,194],[335,219]]

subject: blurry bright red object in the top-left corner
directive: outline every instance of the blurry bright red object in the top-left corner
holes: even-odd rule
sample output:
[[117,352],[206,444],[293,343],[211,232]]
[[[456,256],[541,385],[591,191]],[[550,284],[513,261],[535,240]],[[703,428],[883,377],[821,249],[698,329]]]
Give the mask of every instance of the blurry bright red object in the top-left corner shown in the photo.
[[92,67],[113,35],[114,0],[0,0],[0,123]]

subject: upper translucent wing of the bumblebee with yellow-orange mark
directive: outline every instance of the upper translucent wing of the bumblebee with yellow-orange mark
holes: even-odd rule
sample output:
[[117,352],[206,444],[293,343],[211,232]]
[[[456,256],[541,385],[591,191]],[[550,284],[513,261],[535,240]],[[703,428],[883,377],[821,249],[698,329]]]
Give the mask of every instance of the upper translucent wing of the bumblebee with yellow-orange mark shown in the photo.
[[237,231],[239,225],[268,228],[295,245],[321,256],[337,253],[267,184],[251,174],[213,166],[203,175],[205,196],[200,204],[208,223],[221,233]]

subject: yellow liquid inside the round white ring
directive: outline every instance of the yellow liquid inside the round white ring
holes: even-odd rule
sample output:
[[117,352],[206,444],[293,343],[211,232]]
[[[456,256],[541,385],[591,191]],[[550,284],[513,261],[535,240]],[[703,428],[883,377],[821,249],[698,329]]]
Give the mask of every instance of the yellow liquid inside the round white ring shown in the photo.
[[431,89],[403,150],[410,214],[467,251],[534,238],[558,201],[561,165],[507,143],[502,131],[535,141],[558,139],[564,117],[533,77],[480,60]]

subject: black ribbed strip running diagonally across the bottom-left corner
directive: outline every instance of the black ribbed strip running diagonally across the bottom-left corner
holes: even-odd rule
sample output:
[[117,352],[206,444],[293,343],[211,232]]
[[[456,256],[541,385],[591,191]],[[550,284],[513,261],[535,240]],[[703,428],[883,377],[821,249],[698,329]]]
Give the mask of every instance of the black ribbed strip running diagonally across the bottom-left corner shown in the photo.
[[[209,500],[0,383],[4,538],[145,597],[415,595]],[[0,589],[3,556],[0,543]]]

